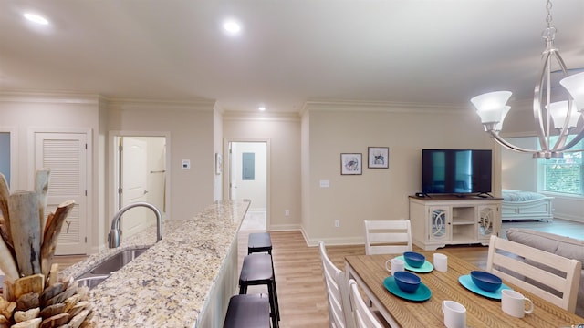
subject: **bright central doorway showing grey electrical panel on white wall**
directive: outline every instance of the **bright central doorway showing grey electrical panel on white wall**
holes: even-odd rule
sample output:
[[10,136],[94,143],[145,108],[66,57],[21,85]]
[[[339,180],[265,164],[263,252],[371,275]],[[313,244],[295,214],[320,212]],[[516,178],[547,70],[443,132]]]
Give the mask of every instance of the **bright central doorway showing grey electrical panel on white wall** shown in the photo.
[[266,231],[269,226],[268,141],[228,142],[229,200],[251,200],[241,231]]

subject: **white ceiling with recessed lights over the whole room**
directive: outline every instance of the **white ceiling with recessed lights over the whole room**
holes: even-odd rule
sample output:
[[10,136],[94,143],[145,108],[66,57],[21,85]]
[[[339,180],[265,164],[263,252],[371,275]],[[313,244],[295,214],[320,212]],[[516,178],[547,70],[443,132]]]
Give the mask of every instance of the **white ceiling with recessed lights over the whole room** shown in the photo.
[[[584,1],[556,0],[556,46],[584,67]],[[216,100],[298,112],[310,100],[471,106],[533,97],[544,0],[0,0],[0,91]],[[25,12],[44,15],[35,26]],[[234,17],[238,36],[224,33]]]

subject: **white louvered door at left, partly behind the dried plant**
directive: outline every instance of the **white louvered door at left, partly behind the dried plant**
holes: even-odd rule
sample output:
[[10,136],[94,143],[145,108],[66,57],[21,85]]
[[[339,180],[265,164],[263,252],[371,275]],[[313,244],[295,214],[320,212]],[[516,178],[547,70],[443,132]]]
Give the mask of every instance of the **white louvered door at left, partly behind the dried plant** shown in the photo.
[[85,133],[35,133],[35,170],[50,169],[46,215],[63,201],[75,200],[58,237],[57,255],[87,253],[87,139]]

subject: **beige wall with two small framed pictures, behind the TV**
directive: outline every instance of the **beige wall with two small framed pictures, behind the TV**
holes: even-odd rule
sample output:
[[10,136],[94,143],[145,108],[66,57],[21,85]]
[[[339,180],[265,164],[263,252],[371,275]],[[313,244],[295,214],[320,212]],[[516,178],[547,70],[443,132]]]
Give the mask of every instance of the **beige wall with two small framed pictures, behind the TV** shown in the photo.
[[[318,240],[362,243],[363,220],[409,218],[408,195],[421,188],[422,149],[495,145],[468,108],[355,103],[308,103],[306,108],[302,199],[309,203],[303,202],[302,228],[313,245]],[[389,169],[367,168],[368,147],[389,147]],[[341,153],[363,154],[362,175],[340,175]],[[494,177],[498,169],[495,163]],[[328,181],[328,188],[320,187],[321,180]],[[497,181],[493,188],[500,188]]]

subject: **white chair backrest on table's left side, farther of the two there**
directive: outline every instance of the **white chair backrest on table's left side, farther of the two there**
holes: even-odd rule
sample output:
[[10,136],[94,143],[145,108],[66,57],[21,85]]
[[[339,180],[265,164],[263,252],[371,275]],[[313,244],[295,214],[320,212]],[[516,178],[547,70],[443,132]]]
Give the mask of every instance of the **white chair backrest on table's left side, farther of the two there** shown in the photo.
[[323,241],[318,241],[320,261],[325,277],[328,298],[328,317],[330,327],[345,328],[354,326],[353,313],[350,308],[349,285],[345,273],[328,259],[327,249]]

